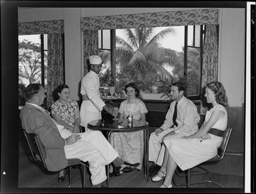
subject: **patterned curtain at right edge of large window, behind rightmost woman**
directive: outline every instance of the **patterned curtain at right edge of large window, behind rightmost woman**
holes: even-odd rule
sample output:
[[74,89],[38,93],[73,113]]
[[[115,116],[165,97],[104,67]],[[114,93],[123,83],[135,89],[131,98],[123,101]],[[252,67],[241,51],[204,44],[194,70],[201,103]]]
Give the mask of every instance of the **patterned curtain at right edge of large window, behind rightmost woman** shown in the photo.
[[218,67],[218,25],[205,25],[205,38],[203,43],[203,64],[201,76],[201,106],[200,112],[205,114],[211,108],[207,104],[205,94],[205,86],[209,82],[217,81]]

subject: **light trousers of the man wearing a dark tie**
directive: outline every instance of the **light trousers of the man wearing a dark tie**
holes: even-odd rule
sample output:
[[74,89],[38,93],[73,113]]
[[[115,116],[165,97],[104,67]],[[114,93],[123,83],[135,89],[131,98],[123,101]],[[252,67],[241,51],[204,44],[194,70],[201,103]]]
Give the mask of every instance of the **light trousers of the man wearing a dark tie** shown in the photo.
[[[158,134],[156,136],[155,132],[152,132],[150,134],[150,140],[148,142],[148,159],[149,161],[154,161],[157,165],[162,165],[164,161],[164,151],[165,151],[165,146],[162,145],[162,138],[171,132],[171,128],[168,128]],[[181,134],[180,132],[176,132],[176,134],[173,134],[171,136],[168,136],[168,138],[181,138],[182,136],[185,136],[185,134]]]

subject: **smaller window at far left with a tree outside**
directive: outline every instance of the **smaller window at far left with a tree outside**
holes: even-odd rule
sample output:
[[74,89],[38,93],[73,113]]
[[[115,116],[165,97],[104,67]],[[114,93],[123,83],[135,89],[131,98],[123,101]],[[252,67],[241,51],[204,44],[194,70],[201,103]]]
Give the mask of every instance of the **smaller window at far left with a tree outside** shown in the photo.
[[47,89],[47,34],[19,35],[19,84],[33,83]]

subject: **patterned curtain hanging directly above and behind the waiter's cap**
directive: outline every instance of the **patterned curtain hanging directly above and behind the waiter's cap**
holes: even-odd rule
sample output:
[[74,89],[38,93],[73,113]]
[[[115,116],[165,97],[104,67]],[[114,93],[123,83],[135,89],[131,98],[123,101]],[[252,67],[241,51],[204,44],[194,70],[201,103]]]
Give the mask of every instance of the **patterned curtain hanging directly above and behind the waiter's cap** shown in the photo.
[[98,31],[84,31],[84,75],[88,72],[87,58],[98,54]]

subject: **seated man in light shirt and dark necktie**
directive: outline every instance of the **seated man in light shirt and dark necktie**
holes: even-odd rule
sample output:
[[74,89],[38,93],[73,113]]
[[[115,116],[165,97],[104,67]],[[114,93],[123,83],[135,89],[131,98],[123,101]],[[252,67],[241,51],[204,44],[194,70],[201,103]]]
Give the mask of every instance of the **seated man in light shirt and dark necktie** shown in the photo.
[[182,82],[175,82],[171,86],[171,97],[174,100],[166,114],[166,120],[160,128],[150,134],[149,140],[149,161],[154,161],[149,169],[149,176],[158,173],[164,159],[164,146],[162,140],[166,136],[181,138],[191,136],[197,132],[197,123],[200,120],[197,108],[191,100],[184,96],[186,88]]

